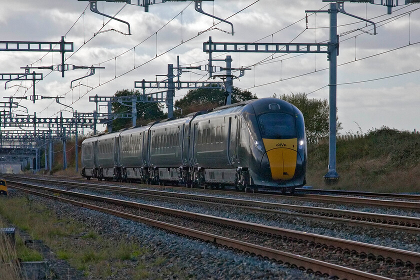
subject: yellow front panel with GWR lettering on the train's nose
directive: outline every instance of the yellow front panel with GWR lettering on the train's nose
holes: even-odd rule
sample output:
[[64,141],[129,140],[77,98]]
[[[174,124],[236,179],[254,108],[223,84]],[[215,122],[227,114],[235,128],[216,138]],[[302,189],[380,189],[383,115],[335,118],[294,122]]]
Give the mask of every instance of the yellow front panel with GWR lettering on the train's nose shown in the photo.
[[274,180],[289,180],[296,167],[297,138],[262,139]]

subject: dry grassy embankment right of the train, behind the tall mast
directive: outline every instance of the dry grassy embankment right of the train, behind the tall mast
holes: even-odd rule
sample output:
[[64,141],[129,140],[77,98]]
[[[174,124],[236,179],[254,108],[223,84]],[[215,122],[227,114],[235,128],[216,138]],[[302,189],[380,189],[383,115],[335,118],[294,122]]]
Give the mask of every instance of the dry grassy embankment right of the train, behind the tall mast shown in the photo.
[[420,192],[420,135],[386,126],[362,138],[338,140],[340,179],[325,185],[328,143],[308,145],[307,185],[376,192]]

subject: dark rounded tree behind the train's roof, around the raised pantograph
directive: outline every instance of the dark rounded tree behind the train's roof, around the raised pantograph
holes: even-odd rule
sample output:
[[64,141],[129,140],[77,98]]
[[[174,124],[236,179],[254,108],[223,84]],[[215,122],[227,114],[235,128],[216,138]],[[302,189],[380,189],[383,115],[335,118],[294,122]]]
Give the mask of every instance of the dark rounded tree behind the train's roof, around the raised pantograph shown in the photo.
[[[249,90],[241,90],[233,86],[231,102],[237,103],[249,99],[257,99]],[[175,101],[175,106],[182,109],[182,113],[188,114],[200,110],[208,110],[224,103],[224,91],[221,89],[197,88],[188,90],[187,94]]]

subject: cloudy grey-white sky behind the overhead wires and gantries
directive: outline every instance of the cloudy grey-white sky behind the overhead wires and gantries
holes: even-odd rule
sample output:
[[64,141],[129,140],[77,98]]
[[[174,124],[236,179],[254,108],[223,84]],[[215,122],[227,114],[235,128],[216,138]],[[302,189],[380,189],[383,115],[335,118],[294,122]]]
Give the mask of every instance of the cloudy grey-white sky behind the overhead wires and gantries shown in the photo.
[[[88,70],[66,71],[63,78],[57,71],[33,69],[43,73],[35,94],[64,97],[60,102],[74,110],[92,112],[95,103],[89,102],[89,96],[112,96],[117,90],[132,89],[134,81],[164,79],[167,65],[176,66],[177,56],[181,66],[202,67],[183,72],[181,81],[220,81],[209,79],[204,71],[208,54],[202,51],[202,44],[209,36],[215,42],[325,43],[329,14],[305,10],[326,11],[328,6],[329,2],[322,0],[202,1],[205,12],[228,18],[234,28],[232,36],[227,33],[231,31],[229,24],[198,13],[193,1],[156,3],[148,12],[136,4],[98,1],[100,12],[117,14],[115,17],[129,22],[132,34],[125,35],[126,24],[91,12],[87,1],[4,1],[0,41],[58,42],[65,36],[66,42],[73,42],[74,51],[65,53],[65,63],[105,68],[74,82],[73,88],[71,80],[86,75]],[[377,34],[372,34],[370,23],[338,14],[337,115],[343,127],[339,133],[366,133],[382,125],[418,131],[420,4],[400,5],[387,14],[387,8],[380,4],[345,2],[344,10],[375,22]],[[213,27],[218,29],[201,32]],[[326,54],[219,52],[213,53],[213,58],[224,59],[226,55],[231,55],[232,67],[250,68],[233,85],[258,98],[304,92],[308,98],[328,99]],[[0,51],[0,72],[23,73],[20,67],[56,65],[60,60],[59,52]],[[215,61],[213,65],[225,66],[225,62]],[[2,97],[32,94],[29,81],[8,82],[6,89],[4,85],[5,81],[0,81]],[[175,100],[186,93],[187,89],[175,91]],[[21,100],[19,104],[13,113],[55,117],[62,111],[63,116],[71,116],[71,110],[54,99],[37,100],[35,104]],[[107,111],[105,103],[100,104],[99,111]],[[103,129],[98,127],[99,131]]]

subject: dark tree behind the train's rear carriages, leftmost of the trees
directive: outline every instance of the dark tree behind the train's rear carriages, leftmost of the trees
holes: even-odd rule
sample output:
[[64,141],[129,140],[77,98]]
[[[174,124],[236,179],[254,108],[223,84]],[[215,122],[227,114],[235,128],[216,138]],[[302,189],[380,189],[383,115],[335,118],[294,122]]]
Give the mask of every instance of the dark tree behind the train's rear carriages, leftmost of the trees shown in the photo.
[[[141,93],[138,90],[134,89],[121,89],[115,92],[115,97],[118,96],[131,96],[131,95],[140,95]],[[112,102],[112,112],[114,113],[131,113],[132,112],[132,102],[126,102],[126,105],[123,105],[119,102]],[[144,125],[148,122],[151,122],[154,119],[166,118],[167,114],[163,113],[163,105],[160,103],[154,102],[139,102],[136,104],[137,108],[137,121],[136,125]],[[119,130],[124,127],[130,127],[132,125],[131,118],[117,118],[112,121],[112,130]]]

